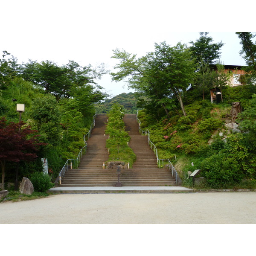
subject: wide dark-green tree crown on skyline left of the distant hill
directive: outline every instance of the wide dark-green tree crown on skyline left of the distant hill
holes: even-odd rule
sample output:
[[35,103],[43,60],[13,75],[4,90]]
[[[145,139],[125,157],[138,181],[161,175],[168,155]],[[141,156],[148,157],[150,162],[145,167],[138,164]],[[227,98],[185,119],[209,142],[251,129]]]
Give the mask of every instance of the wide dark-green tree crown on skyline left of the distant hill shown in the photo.
[[81,67],[75,61],[58,66],[53,61],[29,61],[23,65],[22,76],[24,79],[32,81],[44,88],[46,93],[52,93],[57,100],[69,98],[72,87],[84,87],[88,84],[96,84],[95,79],[100,79],[102,75],[108,73],[105,64],[100,64],[93,68],[90,64]]

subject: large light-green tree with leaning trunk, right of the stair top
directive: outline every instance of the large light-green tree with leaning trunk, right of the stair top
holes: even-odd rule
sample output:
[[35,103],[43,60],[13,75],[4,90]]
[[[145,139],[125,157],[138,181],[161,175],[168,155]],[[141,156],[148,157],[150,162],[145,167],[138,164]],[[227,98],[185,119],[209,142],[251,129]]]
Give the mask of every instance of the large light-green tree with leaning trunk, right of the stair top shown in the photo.
[[166,42],[155,44],[155,51],[136,58],[125,51],[116,49],[112,58],[119,59],[117,73],[111,73],[114,81],[128,77],[128,86],[144,92],[152,100],[162,105],[169,116],[169,109],[180,104],[183,115],[183,92],[195,78],[195,62],[186,45],[178,43],[170,47]]

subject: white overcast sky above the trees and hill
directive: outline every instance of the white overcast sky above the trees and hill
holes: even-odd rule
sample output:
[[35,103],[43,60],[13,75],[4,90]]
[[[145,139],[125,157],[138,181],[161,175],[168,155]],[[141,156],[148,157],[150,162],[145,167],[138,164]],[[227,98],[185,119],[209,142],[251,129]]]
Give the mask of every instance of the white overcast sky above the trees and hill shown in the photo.
[[[62,65],[73,60],[81,66],[96,66],[104,62],[113,71],[116,63],[111,59],[113,49],[142,56],[154,50],[154,42],[189,44],[199,38],[200,31],[208,31],[215,42],[225,43],[221,48],[224,64],[245,64],[239,55],[241,45],[235,32],[250,31],[250,28],[241,23],[244,19],[237,5],[231,6],[230,2],[217,0],[210,6],[201,0],[189,3],[170,0],[3,2],[0,4],[0,53],[10,52],[19,63],[31,59]],[[243,1],[246,3],[247,0]],[[249,11],[245,15],[247,23],[252,19],[253,24],[253,15],[250,17]],[[123,88],[123,82],[111,82],[110,75],[97,82],[111,96],[132,91],[127,86]]]

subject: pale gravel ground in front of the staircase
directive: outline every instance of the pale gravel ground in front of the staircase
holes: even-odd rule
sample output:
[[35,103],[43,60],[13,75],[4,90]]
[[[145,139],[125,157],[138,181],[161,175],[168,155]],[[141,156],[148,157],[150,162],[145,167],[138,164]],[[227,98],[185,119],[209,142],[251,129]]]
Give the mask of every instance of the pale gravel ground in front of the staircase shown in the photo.
[[59,194],[0,204],[0,224],[256,224],[256,192]]

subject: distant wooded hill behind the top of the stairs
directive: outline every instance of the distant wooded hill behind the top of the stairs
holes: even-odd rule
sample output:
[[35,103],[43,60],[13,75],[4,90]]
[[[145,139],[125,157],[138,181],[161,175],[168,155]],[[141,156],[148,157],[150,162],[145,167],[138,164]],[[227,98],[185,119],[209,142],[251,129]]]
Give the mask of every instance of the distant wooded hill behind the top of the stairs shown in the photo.
[[137,93],[121,93],[114,96],[112,99],[107,99],[105,102],[95,104],[96,113],[107,113],[111,106],[116,102],[124,107],[125,113],[137,113]]

